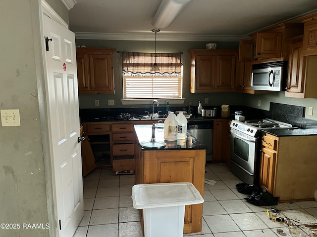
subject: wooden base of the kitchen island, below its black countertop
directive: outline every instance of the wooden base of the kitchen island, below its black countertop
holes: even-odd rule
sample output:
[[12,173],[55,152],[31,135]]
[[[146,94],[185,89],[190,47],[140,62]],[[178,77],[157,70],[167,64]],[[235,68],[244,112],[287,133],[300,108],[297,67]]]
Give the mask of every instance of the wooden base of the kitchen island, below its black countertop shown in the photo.
[[[206,150],[151,151],[136,145],[135,159],[135,184],[190,182],[204,196]],[[200,232],[202,217],[203,204],[186,205],[184,233]]]

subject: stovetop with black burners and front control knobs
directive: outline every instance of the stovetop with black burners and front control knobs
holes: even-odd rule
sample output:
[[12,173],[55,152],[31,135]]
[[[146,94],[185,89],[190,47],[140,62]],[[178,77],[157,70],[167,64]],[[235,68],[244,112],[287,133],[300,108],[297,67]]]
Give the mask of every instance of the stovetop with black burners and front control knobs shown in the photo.
[[269,118],[246,121],[232,120],[230,127],[252,137],[255,137],[258,134],[258,131],[261,130],[296,128],[292,124]]

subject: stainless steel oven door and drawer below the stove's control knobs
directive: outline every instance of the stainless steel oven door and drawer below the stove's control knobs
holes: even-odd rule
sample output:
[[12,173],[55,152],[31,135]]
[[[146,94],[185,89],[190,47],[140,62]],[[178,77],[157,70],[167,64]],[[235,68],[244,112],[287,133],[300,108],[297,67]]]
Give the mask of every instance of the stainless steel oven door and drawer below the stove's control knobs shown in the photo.
[[243,182],[256,183],[258,138],[231,128],[231,171]]

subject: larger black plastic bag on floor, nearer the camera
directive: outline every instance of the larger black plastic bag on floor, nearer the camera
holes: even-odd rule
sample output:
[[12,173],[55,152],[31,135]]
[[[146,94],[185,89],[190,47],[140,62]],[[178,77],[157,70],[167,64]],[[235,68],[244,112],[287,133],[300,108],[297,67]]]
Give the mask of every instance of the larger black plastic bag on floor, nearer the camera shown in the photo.
[[259,192],[255,192],[244,199],[247,202],[256,206],[275,206],[277,205],[277,197],[274,197],[265,189],[261,189]]

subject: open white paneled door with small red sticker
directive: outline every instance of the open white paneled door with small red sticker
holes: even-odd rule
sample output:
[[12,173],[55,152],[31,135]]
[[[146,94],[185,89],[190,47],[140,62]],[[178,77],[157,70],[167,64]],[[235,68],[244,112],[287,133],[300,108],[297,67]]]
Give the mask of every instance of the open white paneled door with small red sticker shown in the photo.
[[84,215],[75,36],[45,15],[43,26],[57,232],[72,237]]

